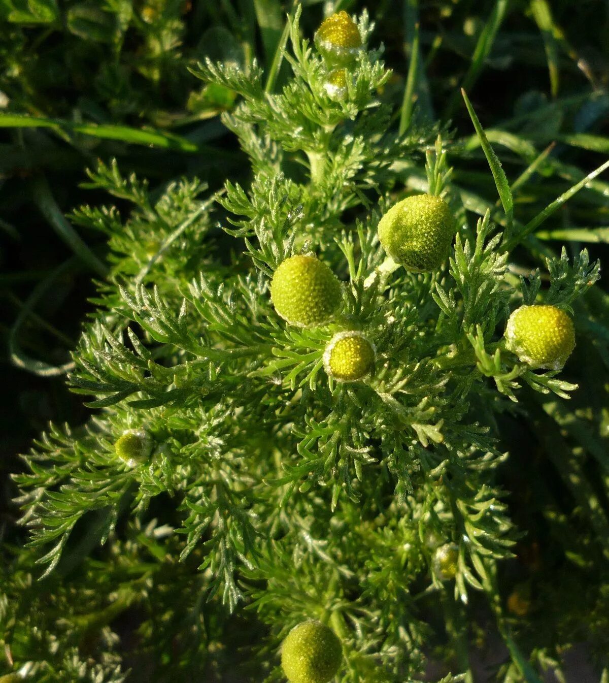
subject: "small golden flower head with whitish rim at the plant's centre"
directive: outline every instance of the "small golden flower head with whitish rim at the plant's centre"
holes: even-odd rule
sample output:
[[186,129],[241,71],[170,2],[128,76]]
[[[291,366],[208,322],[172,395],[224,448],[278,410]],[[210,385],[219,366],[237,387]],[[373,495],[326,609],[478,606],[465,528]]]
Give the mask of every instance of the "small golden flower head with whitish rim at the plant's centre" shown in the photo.
[[372,370],[374,354],[374,345],[361,332],[339,332],[326,346],[324,368],[339,382],[355,382]]

